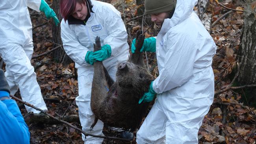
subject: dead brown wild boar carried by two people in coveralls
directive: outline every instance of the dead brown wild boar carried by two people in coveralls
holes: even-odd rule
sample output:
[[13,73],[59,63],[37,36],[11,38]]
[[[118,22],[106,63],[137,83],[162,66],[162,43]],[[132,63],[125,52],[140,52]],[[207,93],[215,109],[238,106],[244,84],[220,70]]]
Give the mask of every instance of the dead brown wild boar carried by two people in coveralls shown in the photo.
[[[116,81],[109,76],[101,61],[94,63],[91,89],[91,110],[98,119],[111,127],[135,131],[147,113],[149,103],[139,104],[139,98],[148,91],[153,76],[145,68],[139,50],[145,36],[136,36],[136,51],[129,60],[118,64]],[[100,50],[100,38],[96,37],[94,50]]]

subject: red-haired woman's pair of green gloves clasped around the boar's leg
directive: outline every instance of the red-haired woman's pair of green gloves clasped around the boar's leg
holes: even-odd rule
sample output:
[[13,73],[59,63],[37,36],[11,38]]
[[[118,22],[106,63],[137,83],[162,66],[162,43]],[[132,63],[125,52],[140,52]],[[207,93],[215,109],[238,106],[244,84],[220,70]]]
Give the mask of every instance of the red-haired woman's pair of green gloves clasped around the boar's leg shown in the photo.
[[85,56],[85,61],[90,65],[93,65],[95,61],[104,61],[111,55],[111,47],[105,44],[101,47],[101,50],[96,52],[88,51]]

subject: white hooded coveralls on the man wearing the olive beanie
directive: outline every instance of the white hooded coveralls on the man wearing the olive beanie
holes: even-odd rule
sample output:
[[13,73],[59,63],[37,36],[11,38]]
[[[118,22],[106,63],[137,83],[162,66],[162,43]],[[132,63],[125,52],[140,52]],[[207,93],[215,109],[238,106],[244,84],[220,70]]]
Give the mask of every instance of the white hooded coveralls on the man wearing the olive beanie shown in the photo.
[[157,99],[137,132],[137,144],[198,144],[198,129],[214,97],[216,45],[193,12],[197,0],[177,0],[156,38]]

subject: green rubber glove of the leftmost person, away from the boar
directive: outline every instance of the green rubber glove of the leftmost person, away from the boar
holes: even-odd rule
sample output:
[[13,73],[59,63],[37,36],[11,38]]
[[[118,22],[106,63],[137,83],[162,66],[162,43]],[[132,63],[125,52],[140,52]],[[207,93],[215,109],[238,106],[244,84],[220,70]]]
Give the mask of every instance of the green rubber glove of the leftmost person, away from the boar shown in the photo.
[[50,8],[50,6],[45,2],[45,0],[41,0],[41,5],[39,8],[40,11],[43,11],[45,13],[46,18],[53,18],[56,26],[59,24],[58,17],[56,16],[56,13],[53,11],[53,9]]

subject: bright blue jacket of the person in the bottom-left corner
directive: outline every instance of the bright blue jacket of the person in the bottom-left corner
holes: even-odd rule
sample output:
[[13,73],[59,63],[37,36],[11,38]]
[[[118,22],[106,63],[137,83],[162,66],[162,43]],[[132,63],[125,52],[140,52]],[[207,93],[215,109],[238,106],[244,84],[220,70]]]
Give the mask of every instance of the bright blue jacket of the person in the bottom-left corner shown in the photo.
[[14,100],[0,101],[0,132],[0,143],[30,143],[28,126]]

